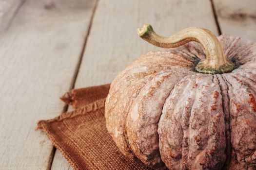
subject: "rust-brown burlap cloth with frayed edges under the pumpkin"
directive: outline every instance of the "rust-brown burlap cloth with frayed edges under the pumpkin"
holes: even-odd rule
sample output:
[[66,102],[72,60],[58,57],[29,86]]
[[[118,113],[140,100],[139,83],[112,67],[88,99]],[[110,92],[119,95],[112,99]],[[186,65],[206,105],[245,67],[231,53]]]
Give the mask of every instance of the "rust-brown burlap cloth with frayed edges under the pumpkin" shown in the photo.
[[152,170],[123,156],[107,133],[104,102],[109,86],[75,89],[64,94],[62,101],[76,110],[40,120],[38,129],[45,132],[75,170]]

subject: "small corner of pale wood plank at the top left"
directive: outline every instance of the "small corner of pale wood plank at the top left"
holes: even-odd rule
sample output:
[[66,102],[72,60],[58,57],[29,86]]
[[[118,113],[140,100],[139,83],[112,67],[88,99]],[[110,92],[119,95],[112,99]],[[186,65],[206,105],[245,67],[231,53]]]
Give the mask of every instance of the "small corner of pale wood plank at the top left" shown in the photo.
[[5,31],[25,0],[0,0],[0,33]]

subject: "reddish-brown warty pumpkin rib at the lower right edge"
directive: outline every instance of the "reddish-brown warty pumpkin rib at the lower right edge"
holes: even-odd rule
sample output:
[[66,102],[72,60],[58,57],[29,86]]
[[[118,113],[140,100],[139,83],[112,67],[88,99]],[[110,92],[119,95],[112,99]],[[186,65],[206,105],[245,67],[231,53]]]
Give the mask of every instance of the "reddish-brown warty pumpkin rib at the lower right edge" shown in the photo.
[[[233,160],[231,160],[229,168],[232,170],[248,169],[249,165],[256,163],[254,156],[256,155],[256,115],[254,106],[251,106],[250,103],[250,97],[252,95],[253,99],[255,99],[255,93],[232,75],[224,76],[229,84],[232,85],[232,91],[236,91],[236,93],[229,93],[232,95],[230,105],[232,120],[230,123],[232,125],[231,142],[233,145]],[[244,98],[237,101],[236,99],[241,93],[244,93]]]

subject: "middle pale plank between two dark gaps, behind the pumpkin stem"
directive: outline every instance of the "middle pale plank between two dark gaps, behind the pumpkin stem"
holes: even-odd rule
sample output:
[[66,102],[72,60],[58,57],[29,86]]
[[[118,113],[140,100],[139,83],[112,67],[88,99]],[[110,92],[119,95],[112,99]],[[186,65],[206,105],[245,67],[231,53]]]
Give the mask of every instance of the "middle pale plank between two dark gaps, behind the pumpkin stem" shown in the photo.
[[[94,16],[76,88],[110,83],[140,54],[160,50],[141,40],[136,29],[151,23],[162,35],[175,34],[192,26],[217,34],[208,0],[100,0]],[[52,170],[70,170],[57,151]]]

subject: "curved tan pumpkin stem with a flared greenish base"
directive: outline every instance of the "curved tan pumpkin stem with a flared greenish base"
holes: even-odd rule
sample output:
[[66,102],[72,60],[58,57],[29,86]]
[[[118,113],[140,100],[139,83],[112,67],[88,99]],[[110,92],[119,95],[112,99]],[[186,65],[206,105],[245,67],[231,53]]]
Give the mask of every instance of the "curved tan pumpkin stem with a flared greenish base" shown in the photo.
[[190,41],[200,43],[205,51],[206,59],[201,60],[196,70],[201,73],[221,74],[230,72],[235,65],[226,59],[217,37],[204,28],[186,28],[170,37],[159,36],[150,24],[137,30],[138,35],[149,43],[162,48],[175,48]]

